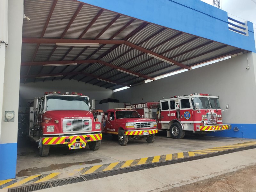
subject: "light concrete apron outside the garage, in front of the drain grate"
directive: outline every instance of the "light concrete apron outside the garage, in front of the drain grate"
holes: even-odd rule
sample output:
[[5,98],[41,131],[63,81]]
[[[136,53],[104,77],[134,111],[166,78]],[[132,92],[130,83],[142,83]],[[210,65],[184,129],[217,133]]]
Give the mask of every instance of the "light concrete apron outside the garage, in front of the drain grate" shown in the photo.
[[[256,149],[124,173],[96,180],[38,190],[38,192],[78,191],[81,189],[104,192],[161,192],[198,181],[207,181],[209,178],[221,178],[222,174],[235,172],[250,165],[256,165]],[[251,179],[249,175],[246,175],[246,177]],[[236,182],[236,184],[240,186],[243,184],[243,180],[239,180],[239,178]],[[251,183],[251,187],[247,187],[245,191],[256,191],[255,178],[252,178],[252,181],[248,181],[248,183]],[[210,184],[211,183],[207,183],[207,186]],[[214,191],[223,191],[222,189],[225,188],[225,185],[228,185],[227,181],[223,180],[221,185],[214,188]],[[240,192],[241,190],[233,191]]]

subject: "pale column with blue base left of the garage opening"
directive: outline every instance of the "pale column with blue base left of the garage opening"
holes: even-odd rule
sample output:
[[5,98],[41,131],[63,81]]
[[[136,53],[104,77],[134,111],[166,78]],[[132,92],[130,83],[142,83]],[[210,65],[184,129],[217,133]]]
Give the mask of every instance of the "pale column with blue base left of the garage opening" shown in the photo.
[[[0,48],[0,180],[16,175],[23,1],[9,0],[7,12],[8,45]],[[5,111],[14,111],[13,122],[5,122]]]

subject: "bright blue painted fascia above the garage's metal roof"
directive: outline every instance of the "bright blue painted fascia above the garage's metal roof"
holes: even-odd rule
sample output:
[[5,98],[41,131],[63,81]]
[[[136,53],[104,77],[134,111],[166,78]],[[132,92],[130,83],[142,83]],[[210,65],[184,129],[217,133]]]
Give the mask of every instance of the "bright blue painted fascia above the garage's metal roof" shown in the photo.
[[255,52],[253,25],[249,36],[228,30],[228,14],[200,0],[80,0],[104,9]]

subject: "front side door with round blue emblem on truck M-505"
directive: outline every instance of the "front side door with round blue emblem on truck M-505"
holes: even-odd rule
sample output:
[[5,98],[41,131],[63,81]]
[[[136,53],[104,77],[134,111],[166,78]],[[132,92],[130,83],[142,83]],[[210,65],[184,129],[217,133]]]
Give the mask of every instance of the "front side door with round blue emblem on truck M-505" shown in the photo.
[[181,123],[193,123],[192,106],[189,98],[180,99],[180,121]]

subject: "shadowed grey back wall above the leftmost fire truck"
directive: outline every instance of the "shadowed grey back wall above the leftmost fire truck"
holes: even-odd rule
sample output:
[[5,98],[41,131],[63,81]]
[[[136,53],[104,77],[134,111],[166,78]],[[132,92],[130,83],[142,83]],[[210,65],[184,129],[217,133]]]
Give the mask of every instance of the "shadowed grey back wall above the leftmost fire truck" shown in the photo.
[[27,102],[31,102],[34,97],[42,97],[44,92],[51,91],[60,91],[62,93],[83,93],[90,99],[95,99],[96,104],[98,104],[102,99],[113,98],[113,90],[111,89],[77,82],[76,80],[64,79],[62,81],[56,80],[26,84],[20,83],[20,106],[26,107]]

